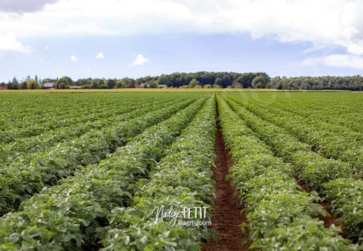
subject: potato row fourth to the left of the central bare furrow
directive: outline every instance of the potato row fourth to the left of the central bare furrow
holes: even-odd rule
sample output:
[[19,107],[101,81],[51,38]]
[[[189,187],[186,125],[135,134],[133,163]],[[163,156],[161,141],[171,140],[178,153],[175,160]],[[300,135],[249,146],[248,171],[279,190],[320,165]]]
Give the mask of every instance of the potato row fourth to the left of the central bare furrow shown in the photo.
[[[115,125],[121,121],[141,116],[143,113],[150,112],[153,109],[162,109],[172,102],[175,102],[175,100],[170,100],[168,102],[160,100],[154,102],[154,106],[142,106],[139,109],[135,109],[132,106],[129,107],[129,105],[133,104],[127,105],[127,108],[125,105],[124,109],[119,109],[117,111],[114,109],[107,109],[108,112],[106,114],[99,116],[102,119],[94,118],[90,119],[90,121],[85,121],[84,123],[74,124],[70,121],[69,126],[67,127],[61,126],[60,128],[57,128],[57,130],[51,130],[42,135],[17,139],[15,142],[0,146],[0,166],[9,165],[9,162],[16,161],[14,160],[16,158],[21,158],[23,160],[22,162],[29,159],[31,160],[33,159],[33,157],[31,157],[33,153],[47,151],[48,148],[54,146],[58,142],[69,142],[89,131],[101,130],[104,127]],[[73,126],[71,126],[71,124],[73,124]],[[26,155],[29,155],[29,158],[27,158]]]

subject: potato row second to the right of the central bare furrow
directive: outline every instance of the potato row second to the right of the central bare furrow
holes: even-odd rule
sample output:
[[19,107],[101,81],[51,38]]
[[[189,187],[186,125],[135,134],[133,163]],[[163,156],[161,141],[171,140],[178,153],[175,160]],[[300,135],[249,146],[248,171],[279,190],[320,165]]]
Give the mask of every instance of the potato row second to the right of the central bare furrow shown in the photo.
[[[311,151],[309,145],[299,142],[278,126],[263,121],[232,100],[228,100],[228,103],[260,139],[272,146],[276,155],[295,166],[299,178],[304,180],[309,188],[318,191],[331,202],[332,212],[335,215],[338,213],[343,215],[346,237],[357,238],[362,243],[363,225],[360,220],[363,218],[356,213],[363,212],[363,204],[360,204],[361,201],[358,199],[362,195],[363,181],[353,174],[353,167],[339,160],[322,158],[318,153]],[[336,179],[339,181],[335,181]],[[354,183],[356,190],[344,186],[348,183]],[[332,187],[335,189],[331,189]],[[347,199],[347,192],[339,193],[337,190],[349,191],[350,197]],[[347,205],[341,203],[342,199]]]

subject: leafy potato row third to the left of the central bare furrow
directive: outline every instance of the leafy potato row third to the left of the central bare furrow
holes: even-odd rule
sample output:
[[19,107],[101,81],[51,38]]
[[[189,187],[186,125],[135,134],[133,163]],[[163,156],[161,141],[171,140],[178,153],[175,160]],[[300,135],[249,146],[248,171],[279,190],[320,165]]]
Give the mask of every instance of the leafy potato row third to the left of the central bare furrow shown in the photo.
[[[60,178],[70,176],[79,165],[99,162],[121,146],[153,126],[175,114],[193,102],[186,100],[156,109],[127,121],[121,121],[103,130],[95,130],[82,137],[49,149],[45,153],[34,153],[29,162],[22,160],[1,167],[0,215],[14,211],[24,199],[39,192],[45,185],[58,183]],[[142,119],[141,119],[142,118]]]

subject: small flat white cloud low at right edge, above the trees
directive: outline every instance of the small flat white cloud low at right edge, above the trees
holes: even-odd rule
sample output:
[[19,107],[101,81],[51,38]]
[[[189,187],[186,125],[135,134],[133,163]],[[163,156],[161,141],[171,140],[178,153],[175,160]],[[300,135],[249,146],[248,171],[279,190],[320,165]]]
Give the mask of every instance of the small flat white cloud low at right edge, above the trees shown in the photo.
[[300,63],[300,66],[331,66],[363,70],[363,56],[350,54],[331,54],[329,56],[319,56],[305,59]]

